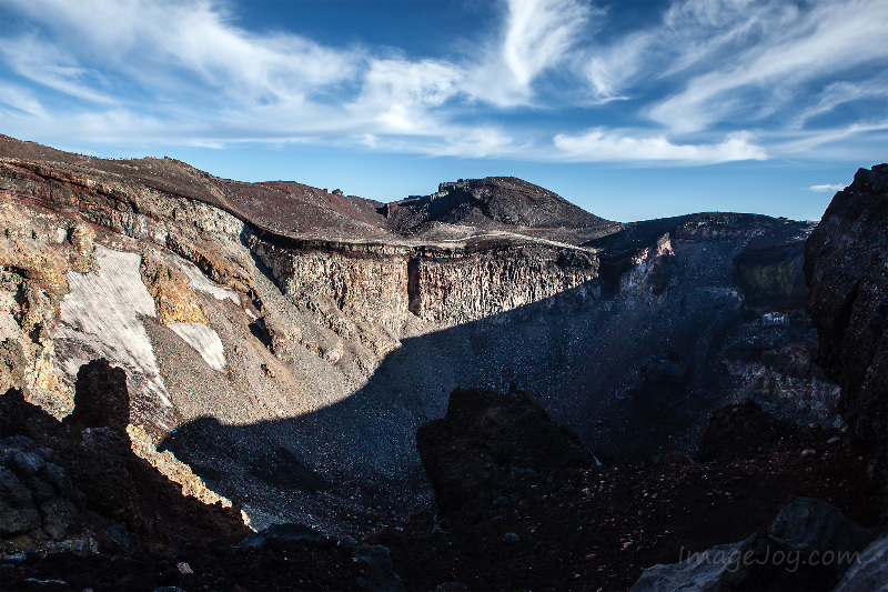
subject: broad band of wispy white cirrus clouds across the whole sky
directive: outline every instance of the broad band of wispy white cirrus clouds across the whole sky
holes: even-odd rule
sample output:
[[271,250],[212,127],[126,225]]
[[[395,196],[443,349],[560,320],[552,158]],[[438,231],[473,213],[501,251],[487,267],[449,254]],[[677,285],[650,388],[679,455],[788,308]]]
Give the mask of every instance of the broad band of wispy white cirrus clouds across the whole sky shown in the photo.
[[869,147],[888,119],[888,44],[860,42],[881,0],[674,0],[619,30],[619,6],[501,0],[436,54],[250,29],[248,7],[2,0],[3,131],[696,165]]

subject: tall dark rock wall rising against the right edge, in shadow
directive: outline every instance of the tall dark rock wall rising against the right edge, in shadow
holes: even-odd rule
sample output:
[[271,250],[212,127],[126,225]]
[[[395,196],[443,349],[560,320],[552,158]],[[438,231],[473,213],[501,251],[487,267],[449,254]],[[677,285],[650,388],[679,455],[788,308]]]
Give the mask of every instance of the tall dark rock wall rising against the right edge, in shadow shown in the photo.
[[860,169],[805,247],[817,362],[841,385],[840,412],[886,485],[888,461],[888,164]]

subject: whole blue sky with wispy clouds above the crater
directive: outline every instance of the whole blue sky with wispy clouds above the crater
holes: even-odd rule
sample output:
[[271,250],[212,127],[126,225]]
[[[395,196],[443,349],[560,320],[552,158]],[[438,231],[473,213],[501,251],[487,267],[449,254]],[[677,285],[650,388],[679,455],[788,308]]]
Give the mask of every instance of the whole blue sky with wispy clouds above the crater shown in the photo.
[[382,201],[819,219],[888,160],[888,2],[0,0],[0,132]]

